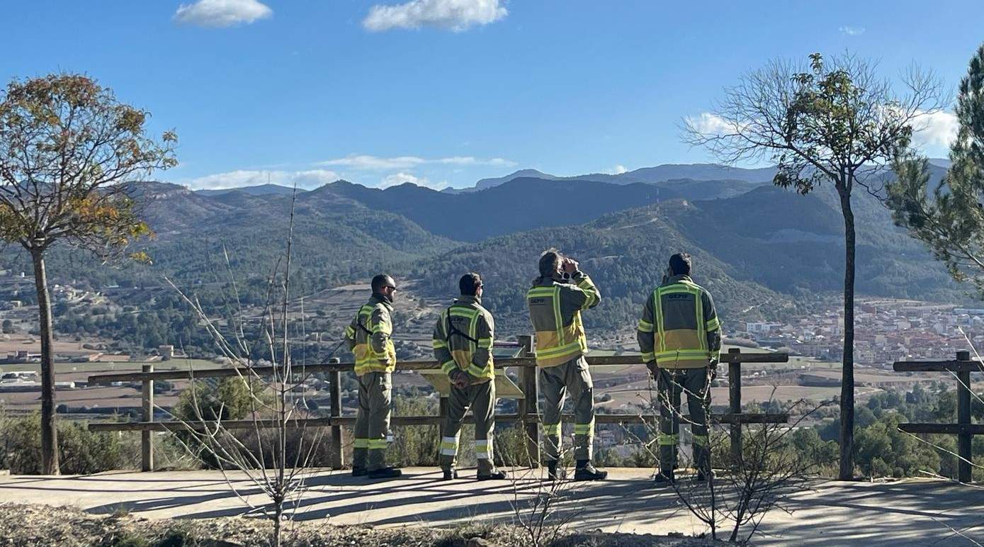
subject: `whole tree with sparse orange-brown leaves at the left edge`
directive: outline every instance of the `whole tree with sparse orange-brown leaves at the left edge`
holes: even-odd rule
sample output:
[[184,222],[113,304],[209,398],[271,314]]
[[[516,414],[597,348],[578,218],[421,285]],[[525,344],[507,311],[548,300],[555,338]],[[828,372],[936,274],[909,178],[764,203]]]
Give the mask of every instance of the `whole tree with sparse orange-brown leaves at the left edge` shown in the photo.
[[[41,467],[58,473],[51,298],[45,253],[56,243],[103,261],[151,230],[128,182],[177,164],[176,137],[147,137],[149,114],[82,75],[14,80],[0,100],[0,240],[31,255],[41,338]],[[145,260],[143,254],[132,258]]]

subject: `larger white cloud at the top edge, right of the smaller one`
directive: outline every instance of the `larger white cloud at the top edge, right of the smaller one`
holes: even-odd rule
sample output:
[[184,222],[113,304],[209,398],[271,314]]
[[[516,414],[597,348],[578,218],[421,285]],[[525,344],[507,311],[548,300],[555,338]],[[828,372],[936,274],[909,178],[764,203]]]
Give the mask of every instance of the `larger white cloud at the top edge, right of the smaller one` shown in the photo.
[[362,20],[362,27],[374,32],[421,27],[461,32],[506,17],[509,12],[503,3],[501,0],[410,0],[396,5],[377,4]]

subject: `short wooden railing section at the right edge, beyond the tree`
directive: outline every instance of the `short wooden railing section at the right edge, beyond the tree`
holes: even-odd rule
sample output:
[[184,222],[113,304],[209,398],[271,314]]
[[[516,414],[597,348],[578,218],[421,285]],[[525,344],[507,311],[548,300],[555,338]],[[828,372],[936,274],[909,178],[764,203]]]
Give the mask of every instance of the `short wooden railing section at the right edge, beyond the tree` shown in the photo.
[[956,377],[956,423],[901,423],[898,429],[906,433],[943,433],[956,435],[956,478],[971,482],[971,444],[974,435],[984,435],[984,424],[970,423],[970,373],[984,372],[981,362],[970,359],[969,351],[957,351],[953,361],[896,361],[896,372],[949,372]]

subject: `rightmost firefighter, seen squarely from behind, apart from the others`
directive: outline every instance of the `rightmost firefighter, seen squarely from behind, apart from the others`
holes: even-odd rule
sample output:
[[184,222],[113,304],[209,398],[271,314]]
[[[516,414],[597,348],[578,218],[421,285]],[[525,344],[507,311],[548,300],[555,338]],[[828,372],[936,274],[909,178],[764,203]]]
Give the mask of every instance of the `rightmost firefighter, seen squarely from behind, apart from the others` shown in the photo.
[[682,393],[687,394],[697,479],[706,480],[710,473],[706,409],[721,349],[721,326],[710,293],[690,273],[690,255],[670,257],[663,283],[646,298],[637,332],[659,399],[659,473],[655,480],[660,485],[674,480]]

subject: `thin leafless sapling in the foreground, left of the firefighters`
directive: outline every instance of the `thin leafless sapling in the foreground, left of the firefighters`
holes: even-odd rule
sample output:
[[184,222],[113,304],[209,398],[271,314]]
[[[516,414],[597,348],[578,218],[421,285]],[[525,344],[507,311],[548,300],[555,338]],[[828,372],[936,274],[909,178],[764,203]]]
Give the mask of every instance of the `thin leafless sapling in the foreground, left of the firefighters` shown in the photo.
[[[249,395],[248,418],[232,422],[222,419],[221,401],[217,410],[202,411],[210,405],[202,404],[197,398],[197,390],[193,389],[191,406],[195,415],[190,419],[176,417],[182,424],[179,430],[182,435],[175,438],[189,453],[198,455],[204,451],[211,456],[229,488],[251,507],[243,489],[234,482],[235,476],[228,471],[245,475],[248,484],[259,488],[271,502],[270,507],[258,509],[274,520],[275,545],[281,542],[283,520],[296,511],[297,502],[307,489],[307,481],[315,472],[312,463],[323,441],[323,428],[312,428],[313,435],[307,435],[305,418],[309,412],[304,388],[308,375],[303,360],[295,363],[290,350],[292,336],[304,338],[303,306],[299,325],[290,320],[288,312],[293,221],[291,205],[282,271],[278,261],[268,279],[258,334],[251,335],[252,329],[245,325],[247,314],[239,305],[234,278],[230,277],[230,285],[236,301],[228,303],[235,312],[231,314],[233,323],[224,327],[197,299],[174,287],[212,334],[219,352],[232,363]],[[254,358],[257,354],[264,356],[262,361]],[[265,361],[271,362],[272,366],[266,366]],[[244,442],[236,434],[242,429],[252,433],[252,443]],[[272,433],[268,435],[268,431]]]

